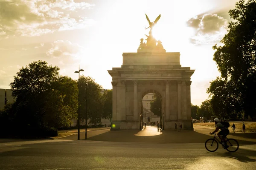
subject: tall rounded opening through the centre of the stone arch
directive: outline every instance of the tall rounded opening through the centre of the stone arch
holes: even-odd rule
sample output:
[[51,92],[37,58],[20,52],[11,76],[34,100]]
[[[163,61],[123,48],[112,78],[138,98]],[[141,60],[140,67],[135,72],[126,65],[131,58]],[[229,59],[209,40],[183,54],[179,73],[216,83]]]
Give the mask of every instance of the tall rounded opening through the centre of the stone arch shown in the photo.
[[[154,90],[145,91],[141,97],[141,129],[163,130],[163,102],[159,92]],[[145,127],[148,126],[148,129]]]

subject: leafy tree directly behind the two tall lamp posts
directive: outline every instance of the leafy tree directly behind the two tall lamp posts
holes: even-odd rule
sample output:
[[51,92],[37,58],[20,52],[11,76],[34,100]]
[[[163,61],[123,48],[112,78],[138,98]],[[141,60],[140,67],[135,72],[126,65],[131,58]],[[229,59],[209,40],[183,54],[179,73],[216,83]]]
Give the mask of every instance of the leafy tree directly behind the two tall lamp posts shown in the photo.
[[92,125],[101,125],[103,115],[103,102],[100,94],[101,88],[102,86],[96,83],[91,77],[80,77],[81,118],[85,119],[85,99],[87,97],[87,119],[90,119],[89,123]]

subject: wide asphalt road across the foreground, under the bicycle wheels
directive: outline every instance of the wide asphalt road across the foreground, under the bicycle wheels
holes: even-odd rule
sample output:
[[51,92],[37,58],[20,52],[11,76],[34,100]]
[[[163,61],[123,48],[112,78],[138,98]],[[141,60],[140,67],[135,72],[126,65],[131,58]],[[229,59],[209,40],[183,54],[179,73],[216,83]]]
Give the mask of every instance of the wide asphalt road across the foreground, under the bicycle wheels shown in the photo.
[[0,170],[254,170],[256,144],[236,153],[204,143],[0,139]]

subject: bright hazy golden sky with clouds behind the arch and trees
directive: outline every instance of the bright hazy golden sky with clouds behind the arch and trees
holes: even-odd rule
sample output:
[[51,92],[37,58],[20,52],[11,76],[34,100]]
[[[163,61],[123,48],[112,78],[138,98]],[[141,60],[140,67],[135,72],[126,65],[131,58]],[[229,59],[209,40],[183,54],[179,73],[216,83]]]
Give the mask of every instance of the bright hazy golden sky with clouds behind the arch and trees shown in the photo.
[[61,75],[90,76],[112,89],[107,70],[121,67],[122,53],[137,52],[148,21],[161,14],[153,35],[166,52],[180,52],[182,67],[195,69],[191,103],[201,105],[220,76],[212,46],[227,33],[228,11],[238,0],[0,0],[0,88],[37,60]]

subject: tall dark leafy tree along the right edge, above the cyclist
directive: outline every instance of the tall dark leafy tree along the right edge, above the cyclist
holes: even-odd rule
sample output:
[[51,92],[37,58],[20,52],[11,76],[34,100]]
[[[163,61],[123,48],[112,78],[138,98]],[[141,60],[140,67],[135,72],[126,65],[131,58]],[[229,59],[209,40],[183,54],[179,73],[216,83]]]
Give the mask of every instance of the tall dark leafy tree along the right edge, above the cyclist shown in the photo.
[[[207,92],[212,96],[214,110],[218,110],[223,116],[241,112],[252,118],[256,115],[255,9],[256,0],[237,2],[236,8],[229,11],[234,21],[229,22],[228,33],[221,40],[224,45],[213,46],[213,60],[218,65],[221,77],[211,82]],[[216,91],[215,88],[219,90]],[[227,92],[219,96],[220,88]],[[221,102],[224,102],[226,107],[223,108]]]

